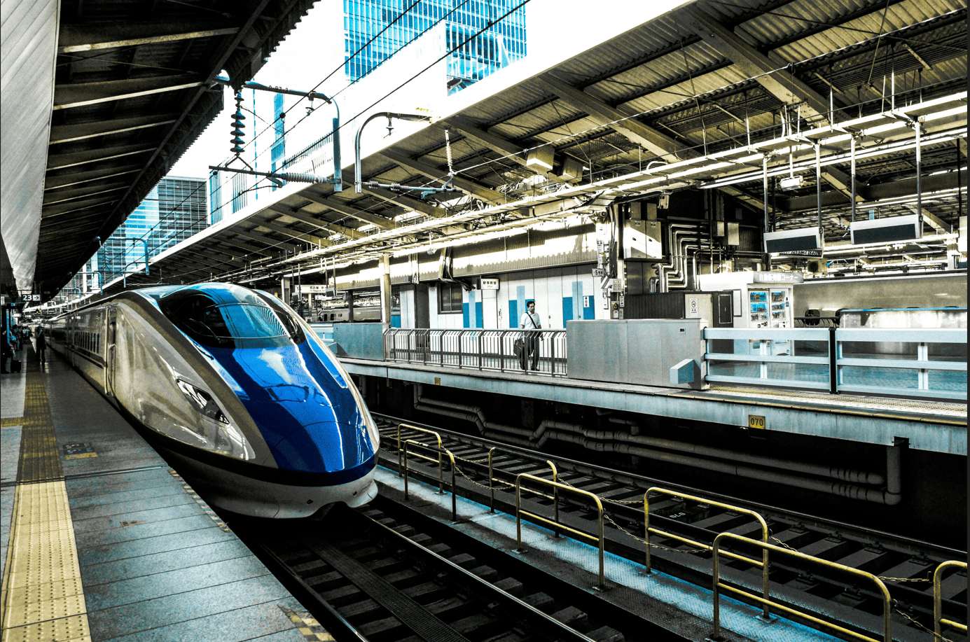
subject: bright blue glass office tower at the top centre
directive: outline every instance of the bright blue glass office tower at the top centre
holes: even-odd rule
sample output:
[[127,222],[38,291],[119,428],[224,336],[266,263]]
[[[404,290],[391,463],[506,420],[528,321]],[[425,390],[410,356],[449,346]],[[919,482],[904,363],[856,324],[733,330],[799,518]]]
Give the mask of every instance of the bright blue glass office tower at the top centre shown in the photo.
[[[521,7],[512,11],[520,4],[518,0],[419,0],[405,14],[411,4],[410,0],[343,0],[344,72],[348,79],[367,76],[438,20],[444,21],[445,48],[450,51],[449,92],[482,80],[526,55],[526,10]],[[490,22],[496,23],[488,26]]]

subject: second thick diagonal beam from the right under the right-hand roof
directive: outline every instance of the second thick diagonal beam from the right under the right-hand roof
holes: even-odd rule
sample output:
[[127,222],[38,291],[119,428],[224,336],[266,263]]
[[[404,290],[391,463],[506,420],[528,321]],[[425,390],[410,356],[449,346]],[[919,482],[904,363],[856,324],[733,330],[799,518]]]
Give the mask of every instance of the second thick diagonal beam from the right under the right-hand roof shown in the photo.
[[[559,97],[576,109],[586,112],[603,127],[609,127],[630,143],[638,144],[647,151],[667,160],[686,160],[697,155],[683,145],[677,144],[669,136],[647,127],[631,116],[634,114],[629,108],[613,108],[602,100],[592,96],[582,89],[568,84],[565,80],[553,74],[542,77],[542,82],[556,92]],[[672,158],[671,158],[672,157]]]

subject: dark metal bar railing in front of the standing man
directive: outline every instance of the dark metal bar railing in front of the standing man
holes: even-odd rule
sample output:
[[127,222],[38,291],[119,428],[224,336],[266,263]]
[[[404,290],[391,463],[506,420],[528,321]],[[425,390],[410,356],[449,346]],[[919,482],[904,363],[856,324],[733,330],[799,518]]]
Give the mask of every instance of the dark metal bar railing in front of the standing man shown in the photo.
[[392,328],[384,333],[384,356],[409,364],[566,376],[566,331]]

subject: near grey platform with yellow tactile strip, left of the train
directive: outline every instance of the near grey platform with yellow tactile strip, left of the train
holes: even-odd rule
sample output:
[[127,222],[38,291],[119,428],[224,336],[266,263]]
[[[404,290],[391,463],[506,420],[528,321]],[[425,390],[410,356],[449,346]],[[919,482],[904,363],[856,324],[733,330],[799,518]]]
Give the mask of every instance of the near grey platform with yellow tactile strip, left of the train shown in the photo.
[[0,378],[4,642],[332,639],[75,370],[24,352]]

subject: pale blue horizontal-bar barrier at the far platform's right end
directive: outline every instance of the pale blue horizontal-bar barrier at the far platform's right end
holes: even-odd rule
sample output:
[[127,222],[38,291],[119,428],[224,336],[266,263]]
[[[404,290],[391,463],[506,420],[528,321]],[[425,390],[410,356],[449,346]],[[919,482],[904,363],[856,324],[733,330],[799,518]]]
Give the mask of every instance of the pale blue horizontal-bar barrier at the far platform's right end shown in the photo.
[[966,330],[707,328],[707,381],[967,399]]

